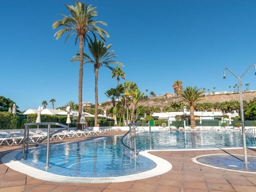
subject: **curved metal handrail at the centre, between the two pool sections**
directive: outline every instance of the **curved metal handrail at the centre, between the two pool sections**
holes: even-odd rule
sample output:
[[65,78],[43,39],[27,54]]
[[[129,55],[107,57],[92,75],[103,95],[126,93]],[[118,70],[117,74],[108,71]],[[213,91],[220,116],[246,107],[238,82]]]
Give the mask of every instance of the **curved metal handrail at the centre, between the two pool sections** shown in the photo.
[[[140,123],[140,124],[138,124],[138,123],[131,123],[131,124],[128,124],[129,125],[129,131],[127,131],[125,134],[124,134],[124,136],[122,136],[122,138],[121,138],[121,141],[122,141],[122,144],[125,146],[125,147],[127,147],[127,148],[129,148],[131,151],[132,151],[132,141],[131,141],[131,138],[132,138],[132,136],[131,136],[131,132],[132,131],[134,131],[134,156],[137,156],[137,146],[136,146],[136,128],[139,126],[139,125],[148,125],[148,127],[149,127],[149,142],[150,142],[150,150],[152,149],[152,145],[151,145],[151,126],[150,126],[150,124],[147,124],[147,123]],[[134,126],[134,127],[131,127],[131,126]],[[124,143],[124,138],[125,138],[125,136],[127,136],[127,134],[129,134],[130,135],[130,147],[129,146],[127,146],[125,143]]]

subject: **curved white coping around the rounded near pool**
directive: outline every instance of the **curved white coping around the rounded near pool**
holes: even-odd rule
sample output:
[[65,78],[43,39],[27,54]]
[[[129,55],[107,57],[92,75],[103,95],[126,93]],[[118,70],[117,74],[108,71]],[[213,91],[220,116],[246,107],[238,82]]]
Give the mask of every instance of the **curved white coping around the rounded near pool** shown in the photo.
[[125,182],[138,179],[147,179],[169,172],[172,169],[172,164],[168,161],[148,154],[149,150],[140,152],[140,155],[147,157],[154,161],[157,165],[156,168],[148,170],[147,172],[137,173],[133,175],[125,175],[120,177],[68,177],[63,175],[56,175],[53,173],[45,172],[28,166],[20,161],[15,160],[15,156],[21,150],[15,150],[2,157],[2,162],[12,168],[13,170],[29,175],[40,180],[46,180],[50,182],[62,182],[62,183],[83,183],[83,184],[96,184],[96,183],[111,183],[111,182]]

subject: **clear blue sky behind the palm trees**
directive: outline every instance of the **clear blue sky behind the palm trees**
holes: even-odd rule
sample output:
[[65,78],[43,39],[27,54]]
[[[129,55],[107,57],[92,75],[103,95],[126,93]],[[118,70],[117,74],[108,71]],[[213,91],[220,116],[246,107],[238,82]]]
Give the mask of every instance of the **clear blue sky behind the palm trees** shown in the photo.
[[[238,79],[256,63],[256,1],[236,0],[88,0],[97,7],[95,20],[110,37],[117,61],[124,63],[125,80],[135,82],[142,92],[173,93],[172,83],[234,90]],[[0,95],[16,102],[21,111],[37,109],[43,100],[56,99],[55,107],[70,100],[78,102],[79,63],[70,59],[79,50],[75,36],[54,38],[58,14],[69,15],[64,4],[74,0],[1,1],[0,5]],[[84,49],[88,53],[88,49]],[[115,65],[113,67],[116,67]],[[84,65],[83,101],[95,103],[93,66]],[[121,80],[120,83],[124,83]],[[243,77],[256,90],[254,69]],[[108,68],[99,70],[99,102],[115,88]],[[146,92],[145,92],[146,94]]]

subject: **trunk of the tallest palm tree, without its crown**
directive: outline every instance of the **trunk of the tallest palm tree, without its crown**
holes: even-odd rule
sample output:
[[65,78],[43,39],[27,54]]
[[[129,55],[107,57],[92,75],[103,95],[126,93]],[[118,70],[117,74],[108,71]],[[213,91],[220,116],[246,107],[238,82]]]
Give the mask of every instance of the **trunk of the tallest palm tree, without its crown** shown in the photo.
[[79,124],[81,114],[82,114],[82,105],[83,105],[83,46],[84,38],[79,36],[79,54],[80,54],[80,63],[79,63],[79,83],[78,83],[78,127],[77,129],[82,130],[82,124]]

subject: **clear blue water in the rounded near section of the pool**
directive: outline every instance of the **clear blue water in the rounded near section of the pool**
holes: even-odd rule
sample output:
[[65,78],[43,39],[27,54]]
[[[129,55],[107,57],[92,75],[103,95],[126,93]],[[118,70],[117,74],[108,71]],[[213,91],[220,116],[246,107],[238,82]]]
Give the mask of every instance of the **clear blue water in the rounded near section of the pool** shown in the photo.
[[154,161],[134,156],[120,142],[120,137],[107,137],[77,143],[51,145],[49,168],[45,169],[46,147],[32,148],[28,158],[16,159],[34,168],[69,177],[118,177],[152,170]]

